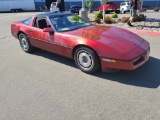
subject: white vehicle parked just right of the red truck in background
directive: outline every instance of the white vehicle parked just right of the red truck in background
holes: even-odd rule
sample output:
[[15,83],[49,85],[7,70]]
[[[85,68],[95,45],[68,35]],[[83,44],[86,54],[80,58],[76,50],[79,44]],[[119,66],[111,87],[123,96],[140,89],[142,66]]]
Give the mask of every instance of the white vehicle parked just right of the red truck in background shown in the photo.
[[131,5],[130,5],[129,2],[122,2],[120,4],[120,11],[121,11],[121,13],[129,12],[130,8],[131,8]]

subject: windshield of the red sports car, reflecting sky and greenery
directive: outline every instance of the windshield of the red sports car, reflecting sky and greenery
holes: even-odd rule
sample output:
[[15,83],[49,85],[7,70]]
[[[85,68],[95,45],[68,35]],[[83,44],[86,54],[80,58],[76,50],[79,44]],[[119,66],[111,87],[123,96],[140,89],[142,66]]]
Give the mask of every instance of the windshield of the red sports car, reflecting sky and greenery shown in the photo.
[[50,18],[57,32],[72,31],[91,24],[78,15],[62,15]]

